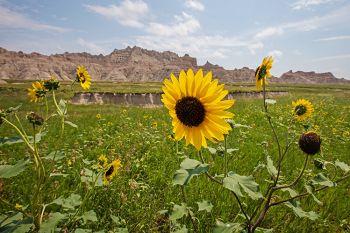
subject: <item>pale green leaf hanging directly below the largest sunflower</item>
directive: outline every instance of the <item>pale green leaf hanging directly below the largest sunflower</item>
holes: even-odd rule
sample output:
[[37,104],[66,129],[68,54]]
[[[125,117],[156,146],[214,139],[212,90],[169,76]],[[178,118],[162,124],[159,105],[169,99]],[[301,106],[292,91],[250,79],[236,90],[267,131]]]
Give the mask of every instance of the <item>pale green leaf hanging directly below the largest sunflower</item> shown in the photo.
[[207,171],[208,164],[186,158],[180,164],[180,169],[175,172],[173,185],[186,185],[188,182],[190,182],[193,176],[200,175]]

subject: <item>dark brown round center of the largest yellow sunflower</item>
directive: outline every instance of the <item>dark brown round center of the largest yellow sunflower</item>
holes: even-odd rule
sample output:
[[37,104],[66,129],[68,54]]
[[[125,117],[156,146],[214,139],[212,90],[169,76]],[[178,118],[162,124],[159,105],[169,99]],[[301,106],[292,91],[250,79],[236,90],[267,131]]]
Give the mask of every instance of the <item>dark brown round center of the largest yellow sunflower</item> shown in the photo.
[[205,109],[199,99],[191,96],[176,102],[175,112],[182,124],[192,127],[200,125],[205,118]]

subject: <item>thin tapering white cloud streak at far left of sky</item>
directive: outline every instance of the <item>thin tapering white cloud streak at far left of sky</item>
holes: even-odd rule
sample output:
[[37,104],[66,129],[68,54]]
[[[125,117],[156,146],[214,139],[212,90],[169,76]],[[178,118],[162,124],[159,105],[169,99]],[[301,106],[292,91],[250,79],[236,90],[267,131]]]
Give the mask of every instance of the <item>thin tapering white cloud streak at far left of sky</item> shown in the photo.
[[0,28],[24,28],[34,31],[65,32],[67,29],[36,22],[26,15],[0,6]]

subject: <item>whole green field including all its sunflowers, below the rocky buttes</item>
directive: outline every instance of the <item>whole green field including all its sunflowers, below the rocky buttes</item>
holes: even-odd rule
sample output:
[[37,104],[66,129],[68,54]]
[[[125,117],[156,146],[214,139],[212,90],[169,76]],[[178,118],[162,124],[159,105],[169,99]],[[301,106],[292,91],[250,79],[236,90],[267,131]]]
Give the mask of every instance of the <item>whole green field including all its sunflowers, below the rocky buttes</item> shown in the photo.
[[190,69],[152,109],[72,106],[54,77],[1,87],[1,232],[349,231],[350,89],[269,99],[272,63],[261,99]]

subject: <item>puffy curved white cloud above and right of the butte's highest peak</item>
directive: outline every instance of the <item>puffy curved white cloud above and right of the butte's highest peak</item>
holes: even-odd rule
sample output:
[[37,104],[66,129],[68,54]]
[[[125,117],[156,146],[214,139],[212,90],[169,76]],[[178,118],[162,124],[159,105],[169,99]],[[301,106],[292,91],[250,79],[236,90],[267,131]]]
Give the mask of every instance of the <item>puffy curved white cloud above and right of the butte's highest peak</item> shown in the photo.
[[200,23],[193,16],[182,12],[182,15],[175,16],[175,22],[171,25],[157,22],[149,23],[146,31],[158,36],[187,36],[200,28]]

